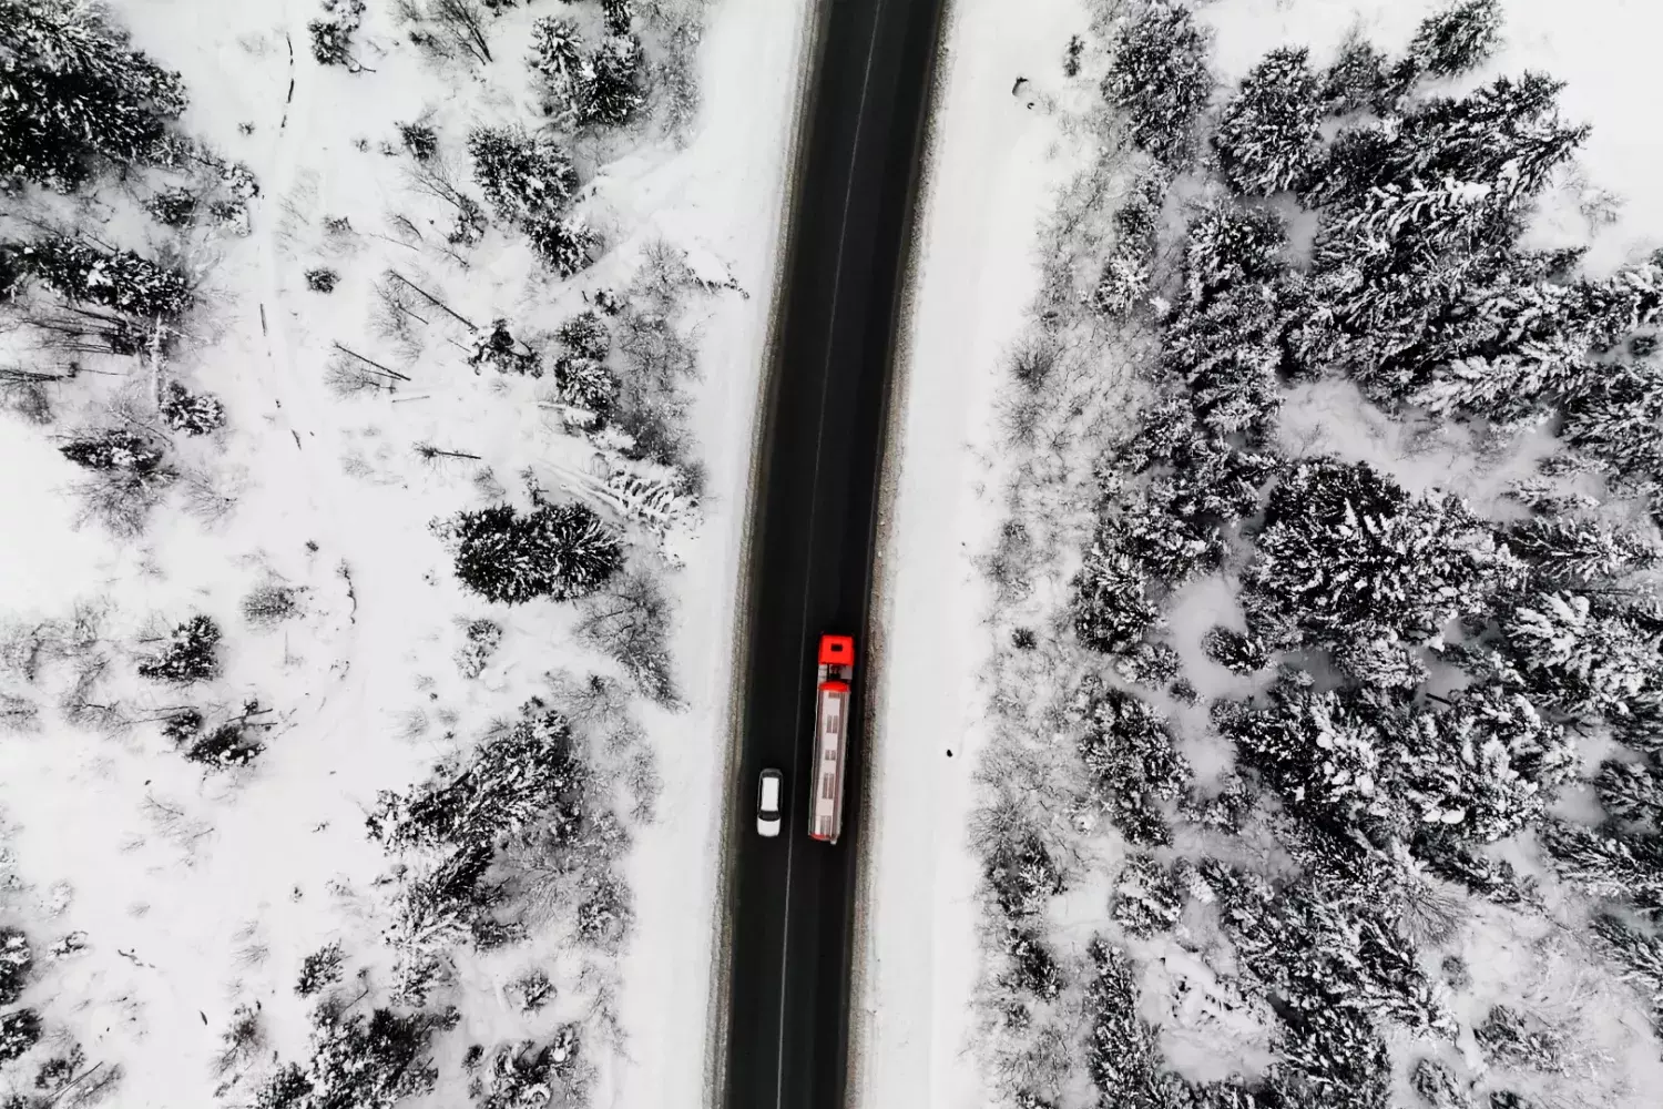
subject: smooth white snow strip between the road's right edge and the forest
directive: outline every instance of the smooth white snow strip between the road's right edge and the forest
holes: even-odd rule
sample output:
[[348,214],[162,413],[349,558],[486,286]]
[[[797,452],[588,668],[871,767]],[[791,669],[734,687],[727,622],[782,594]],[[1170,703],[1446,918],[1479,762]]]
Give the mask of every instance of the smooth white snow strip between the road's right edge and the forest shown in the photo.
[[[991,592],[976,559],[1001,515],[999,367],[1038,284],[1034,228],[1069,171],[1053,111],[1078,3],[948,5],[896,364],[875,635],[866,909],[851,996],[856,1104],[970,1106],[980,873],[965,838],[986,740]],[[1013,95],[1028,76],[1023,95]]]

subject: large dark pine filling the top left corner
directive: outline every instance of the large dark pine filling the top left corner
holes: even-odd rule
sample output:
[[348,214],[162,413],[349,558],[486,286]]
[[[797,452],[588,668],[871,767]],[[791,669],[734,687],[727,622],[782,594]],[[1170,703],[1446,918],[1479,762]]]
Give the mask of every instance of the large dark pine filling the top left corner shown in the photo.
[[108,161],[151,160],[185,85],[128,48],[98,8],[0,0],[0,175],[73,190]]

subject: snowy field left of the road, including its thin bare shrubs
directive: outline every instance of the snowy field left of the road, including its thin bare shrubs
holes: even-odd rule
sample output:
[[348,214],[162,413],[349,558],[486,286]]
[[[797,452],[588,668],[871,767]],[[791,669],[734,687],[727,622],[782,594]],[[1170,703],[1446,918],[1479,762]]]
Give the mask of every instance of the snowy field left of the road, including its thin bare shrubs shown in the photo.
[[[0,490],[0,938],[28,948],[0,1011],[40,1021],[18,1052],[17,1026],[0,1033],[8,1106],[309,1106],[346,1089],[326,1086],[318,1029],[389,1004],[437,1031],[396,1029],[414,1054],[351,1104],[703,1097],[728,643],[808,5],[464,3],[477,43],[439,42],[446,5],[416,7],[426,22],[391,3],[359,22],[351,0],[113,5],[131,47],[180,71],[176,131],[246,166],[258,195],[175,231],[146,219],[138,170],[73,198],[27,186],[8,213],[7,241],[55,228],[178,258],[196,296],[165,356],[17,326],[58,303],[38,286],[0,336],[0,366],[80,371],[7,377],[30,419],[0,416],[0,464],[27,476]],[[647,42],[647,98],[620,126],[557,130],[579,181],[567,211],[594,236],[562,276],[477,205],[464,138],[544,123],[559,88],[527,67],[535,20],[595,42],[619,12],[629,30],[607,42]],[[334,65],[311,53],[324,17],[349,38]],[[422,133],[436,148],[417,156]],[[461,236],[457,195],[476,205]],[[545,372],[574,349],[555,333],[595,308],[612,331],[599,361],[624,379],[614,422]],[[494,347],[497,319],[512,341]],[[644,366],[667,377],[642,386],[632,446]],[[163,427],[163,379],[218,397],[223,427]],[[178,476],[113,532],[60,447],[125,427]],[[464,587],[431,524],[539,497],[590,505],[622,570],[575,602]],[[211,673],[143,677],[198,615],[221,630]],[[620,647],[637,632],[645,655]],[[555,866],[549,828],[502,840],[491,876],[511,893],[487,916],[509,938],[476,921],[469,941],[412,901],[432,860],[366,818],[521,735],[530,698],[570,722],[580,843]],[[186,757],[195,740],[163,730],[186,708],[241,747]],[[311,1066],[314,1092],[274,1092],[279,1062]]]

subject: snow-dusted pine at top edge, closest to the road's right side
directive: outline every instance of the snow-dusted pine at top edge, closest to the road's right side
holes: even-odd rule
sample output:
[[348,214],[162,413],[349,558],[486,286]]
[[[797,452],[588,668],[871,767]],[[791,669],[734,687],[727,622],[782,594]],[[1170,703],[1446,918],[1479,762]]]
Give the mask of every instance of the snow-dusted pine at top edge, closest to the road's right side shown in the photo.
[[1119,28],[1103,95],[1126,115],[1136,146],[1184,168],[1194,153],[1196,118],[1212,95],[1209,42],[1189,8],[1151,0]]

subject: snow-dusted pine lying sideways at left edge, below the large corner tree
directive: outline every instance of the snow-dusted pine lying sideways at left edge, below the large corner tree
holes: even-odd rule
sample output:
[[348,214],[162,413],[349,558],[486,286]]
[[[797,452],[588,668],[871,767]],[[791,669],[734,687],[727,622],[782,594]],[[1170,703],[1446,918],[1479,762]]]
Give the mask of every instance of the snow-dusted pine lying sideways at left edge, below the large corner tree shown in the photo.
[[196,294],[178,269],[131,251],[103,251],[68,234],[0,246],[10,264],[72,303],[101,304],[145,319],[175,319]]

